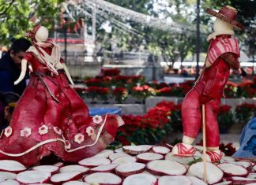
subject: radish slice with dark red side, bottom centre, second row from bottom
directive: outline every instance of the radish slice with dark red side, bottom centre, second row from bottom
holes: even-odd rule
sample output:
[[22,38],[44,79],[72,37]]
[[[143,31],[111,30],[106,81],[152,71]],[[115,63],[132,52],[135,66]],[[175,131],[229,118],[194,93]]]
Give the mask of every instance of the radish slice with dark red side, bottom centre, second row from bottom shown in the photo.
[[141,173],[145,170],[145,165],[141,163],[127,163],[119,165],[115,168],[116,175],[126,177],[130,175],[134,175],[137,173]]

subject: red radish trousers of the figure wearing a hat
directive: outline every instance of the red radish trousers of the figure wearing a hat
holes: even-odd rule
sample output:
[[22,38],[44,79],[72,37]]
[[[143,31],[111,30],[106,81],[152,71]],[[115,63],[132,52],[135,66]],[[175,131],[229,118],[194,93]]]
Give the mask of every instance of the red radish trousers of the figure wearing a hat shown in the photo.
[[194,88],[186,94],[182,105],[183,135],[196,138],[201,128],[201,105],[205,104],[206,146],[220,145],[217,113],[220,109],[220,98],[210,99],[199,94]]

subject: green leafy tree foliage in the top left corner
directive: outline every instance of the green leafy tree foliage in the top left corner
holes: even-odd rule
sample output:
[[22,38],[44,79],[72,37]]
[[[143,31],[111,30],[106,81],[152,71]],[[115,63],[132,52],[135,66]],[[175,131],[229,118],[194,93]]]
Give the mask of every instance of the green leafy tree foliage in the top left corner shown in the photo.
[[0,0],[0,44],[9,44],[13,38],[24,37],[24,32],[35,23],[51,28],[58,20],[63,0]]

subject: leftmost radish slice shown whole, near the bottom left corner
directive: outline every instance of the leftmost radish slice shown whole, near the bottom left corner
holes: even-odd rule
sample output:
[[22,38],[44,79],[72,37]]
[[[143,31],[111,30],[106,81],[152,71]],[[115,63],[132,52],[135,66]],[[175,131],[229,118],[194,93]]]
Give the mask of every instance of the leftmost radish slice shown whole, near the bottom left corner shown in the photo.
[[47,183],[51,178],[51,172],[26,171],[17,175],[17,181],[20,183]]

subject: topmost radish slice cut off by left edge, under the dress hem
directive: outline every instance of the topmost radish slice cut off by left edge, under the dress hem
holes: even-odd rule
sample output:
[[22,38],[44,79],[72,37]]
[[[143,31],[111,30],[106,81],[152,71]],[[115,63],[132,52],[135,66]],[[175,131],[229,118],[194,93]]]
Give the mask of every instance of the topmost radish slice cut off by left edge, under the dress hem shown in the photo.
[[13,160],[0,160],[0,172],[14,172],[19,173],[25,171],[27,168],[24,167],[20,162]]

